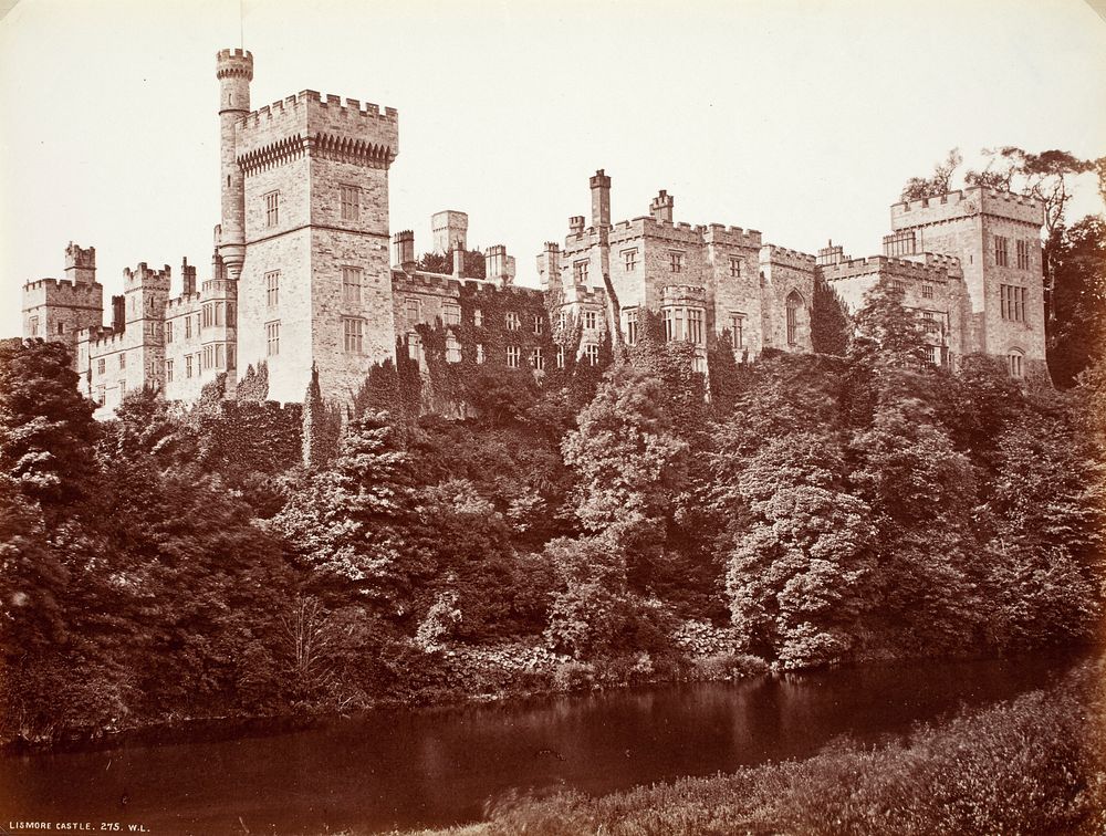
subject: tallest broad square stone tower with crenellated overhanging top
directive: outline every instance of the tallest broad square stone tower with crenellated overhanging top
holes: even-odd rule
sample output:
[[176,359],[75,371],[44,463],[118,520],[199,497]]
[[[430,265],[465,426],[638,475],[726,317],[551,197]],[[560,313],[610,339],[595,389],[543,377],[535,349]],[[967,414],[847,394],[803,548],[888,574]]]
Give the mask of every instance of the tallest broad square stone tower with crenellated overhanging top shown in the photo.
[[[229,60],[246,56],[219,53],[220,67]],[[234,125],[246,221],[238,369],[267,362],[273,399],[302,400],[315,364],[323,397],[347,400],[374,362],[395,356],[388,169],[398,122],[390,107],[304,91]]]

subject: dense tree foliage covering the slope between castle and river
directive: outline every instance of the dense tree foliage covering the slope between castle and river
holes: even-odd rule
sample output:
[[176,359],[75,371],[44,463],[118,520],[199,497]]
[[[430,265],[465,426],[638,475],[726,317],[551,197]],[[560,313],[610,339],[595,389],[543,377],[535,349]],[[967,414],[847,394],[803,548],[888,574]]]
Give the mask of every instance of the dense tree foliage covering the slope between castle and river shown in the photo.
[[719,341],[706,382],[645,317],[605,370],[489,375],[458,420],[400,356],[354,412],[254,370],[97,426],[63,349],[4,344],[2,733],[434,699],[508,647],[570,660],[497,687],[633,681],[689,669],[689,619],[782,668],[1093,637],[1106,359],[1068,391],[952,374],[884,285],[852,324],[832,354]]

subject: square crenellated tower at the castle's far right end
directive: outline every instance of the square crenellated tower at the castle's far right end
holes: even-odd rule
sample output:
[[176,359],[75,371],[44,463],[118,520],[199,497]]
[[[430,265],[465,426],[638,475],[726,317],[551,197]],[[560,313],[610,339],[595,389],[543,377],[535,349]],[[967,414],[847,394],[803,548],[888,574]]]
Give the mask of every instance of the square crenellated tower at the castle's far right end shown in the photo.
[[971,300],[967,349],[1006,357],[1021,376],[1045,359],[1043,223],[1040,200],[977,186],[893,206],[884,251],[957,257]]

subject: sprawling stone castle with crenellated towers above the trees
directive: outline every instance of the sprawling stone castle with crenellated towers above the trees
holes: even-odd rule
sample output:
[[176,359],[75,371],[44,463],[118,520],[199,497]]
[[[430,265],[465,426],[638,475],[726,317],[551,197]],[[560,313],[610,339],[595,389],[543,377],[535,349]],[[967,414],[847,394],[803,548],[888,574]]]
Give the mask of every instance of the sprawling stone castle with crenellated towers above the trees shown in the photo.
[[563,248],[546,243],[538,257],[540,288],[523,288],[502,245],[487,250],[484,276],[463,275],[463,212],[432,218],[434,251],[452,257],[451,274],[417,270],[413,232],[390,234],[395,109],[304,91],[253,111],[253,56],[243,50],[219,52],[216,76],[221,222],[210,278],[198,283],[185,261],[170,295],[168,265],[127,269],[106,327],[93,248],[71,243],[65,279],[23,288],[24,336],[69,344],[101,416],[145,385],[190,401],[226,374],[232,396],[261,363],[273,400],[302,400],[313,369],[324,397],[345,400],[397,351],[422,362],[417,327],[435,323],[447,330],[447,362],[540,374],[565,360],[568,315],[582,326],[578,357],[598,363],[602,341],[634,344],[649,311],[668,339],[696,346],[706,373],[710,335],[728,333],[740,360],[811,352],[818,279],[854,310],[878,281],[902,289],[926,321],[935,364],[985,353],[1014,377],[1043,368],[1043,207],[1033,198],[977,187],[896,203],[884,253],[852,259],[832,243],[814,255],[751,229],[677,222],[666,191],[647,215],[613,222],[611,178],[599,170],[591,218],[570,218]]

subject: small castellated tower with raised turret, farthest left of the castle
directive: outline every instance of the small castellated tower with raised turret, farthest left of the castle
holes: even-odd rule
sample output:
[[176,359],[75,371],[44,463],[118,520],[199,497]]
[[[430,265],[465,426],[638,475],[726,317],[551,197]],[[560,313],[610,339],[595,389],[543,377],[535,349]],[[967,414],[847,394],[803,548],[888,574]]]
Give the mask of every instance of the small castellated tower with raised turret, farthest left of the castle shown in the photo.
[[104,316],[104,286],[96,281],[96,249],[70,242],[65,278],[23,285],[23,336],[65,343],[76,362],[76,335],[98,327]]

